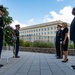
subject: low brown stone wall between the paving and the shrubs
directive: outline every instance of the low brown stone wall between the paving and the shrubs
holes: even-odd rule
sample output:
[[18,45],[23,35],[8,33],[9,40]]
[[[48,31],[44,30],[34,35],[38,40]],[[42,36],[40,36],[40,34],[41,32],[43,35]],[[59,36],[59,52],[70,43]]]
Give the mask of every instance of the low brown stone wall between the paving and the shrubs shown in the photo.
[[[3,47],[4,50],[6,50],[6,47]],[[56,49],[55,48],[38,48],[38,47],[20,47],[20,51],[26,51],[26,52],[39,52],[39,53],[50,53],[55,54]],[[69,49],[69,55],[75,55],[74,49]]]

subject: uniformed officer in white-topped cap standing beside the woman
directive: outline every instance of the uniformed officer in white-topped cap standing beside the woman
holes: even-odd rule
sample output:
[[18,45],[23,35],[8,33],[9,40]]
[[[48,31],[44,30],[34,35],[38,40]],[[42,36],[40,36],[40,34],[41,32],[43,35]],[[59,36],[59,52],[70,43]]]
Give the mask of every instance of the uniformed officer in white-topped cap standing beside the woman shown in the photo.
[[56,53],[57,53],[57,59],[62,58],[62,30],[61,30],[61,25],[57,25]]

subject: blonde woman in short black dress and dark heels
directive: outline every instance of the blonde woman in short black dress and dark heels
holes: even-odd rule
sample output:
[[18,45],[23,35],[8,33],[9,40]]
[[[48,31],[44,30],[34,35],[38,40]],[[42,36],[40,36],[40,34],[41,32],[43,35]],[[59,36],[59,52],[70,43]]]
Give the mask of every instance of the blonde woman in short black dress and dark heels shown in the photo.
[[68,26],[67,26],[67,23],[63,22],[62,27],[63,27],[63,31],[62,31],[63,51],[64,51],[64,60],[62,62],[67,62],[68,61]]

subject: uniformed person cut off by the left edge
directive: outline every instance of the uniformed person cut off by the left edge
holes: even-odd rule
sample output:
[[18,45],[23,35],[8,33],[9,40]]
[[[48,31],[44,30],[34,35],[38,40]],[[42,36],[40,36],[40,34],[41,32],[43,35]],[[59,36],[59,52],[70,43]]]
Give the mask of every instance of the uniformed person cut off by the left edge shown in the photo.
[[[4,22],[3,22],[3,13],[4,13],[4,7],[0,6],[0,58],[1,58],[1,52],[2,52],[2,46],[3,46],[3,28],[4,28]],[[0,64],[0,67],[3,65]]]

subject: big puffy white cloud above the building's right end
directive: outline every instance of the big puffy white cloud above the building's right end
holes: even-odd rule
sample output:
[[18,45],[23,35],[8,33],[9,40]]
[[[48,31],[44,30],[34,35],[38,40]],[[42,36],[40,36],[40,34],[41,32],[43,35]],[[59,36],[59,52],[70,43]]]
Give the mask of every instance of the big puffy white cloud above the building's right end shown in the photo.
[[49,12],[48,15],[44,16],[43,22],[61,20],[61,21],[71,23],[71,21],[73,19],[73,15],[71,14],[71,12],[72,12],[72,7],[71,6],[64,7],[58,13],[55,12],[55,11],[51,11],[51,12]]

